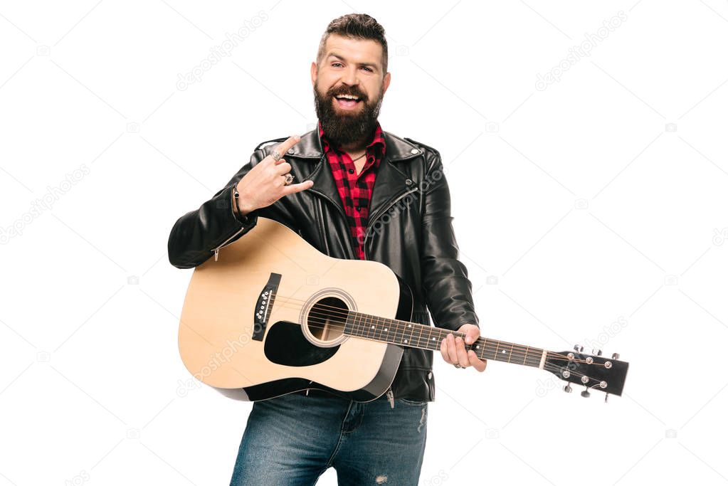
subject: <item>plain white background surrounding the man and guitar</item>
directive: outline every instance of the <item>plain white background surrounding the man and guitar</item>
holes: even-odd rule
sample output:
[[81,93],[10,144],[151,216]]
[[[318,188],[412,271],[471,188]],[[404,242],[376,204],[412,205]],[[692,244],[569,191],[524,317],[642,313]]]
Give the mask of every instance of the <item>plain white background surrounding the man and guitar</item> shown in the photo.
[[0,485],[228,484],[251,405],[181,393],[167,237],[312,128],[353,11],[387,30],[382,127],[443,156],[483,334],[630,362],[604,404],[435,355],[421,484],[727,482],[727,1],[92,0],[0,4]]

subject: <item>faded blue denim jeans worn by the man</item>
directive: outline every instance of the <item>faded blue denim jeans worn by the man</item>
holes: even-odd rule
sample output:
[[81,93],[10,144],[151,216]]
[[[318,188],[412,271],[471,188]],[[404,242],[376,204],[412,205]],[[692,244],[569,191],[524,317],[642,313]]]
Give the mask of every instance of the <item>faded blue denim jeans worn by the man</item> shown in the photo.
[[253,404],[230,485],[314,485],[330,467],[339,485],[416,485],[426,439],[427,402],[282,395]]

